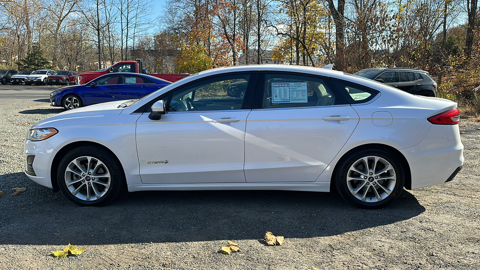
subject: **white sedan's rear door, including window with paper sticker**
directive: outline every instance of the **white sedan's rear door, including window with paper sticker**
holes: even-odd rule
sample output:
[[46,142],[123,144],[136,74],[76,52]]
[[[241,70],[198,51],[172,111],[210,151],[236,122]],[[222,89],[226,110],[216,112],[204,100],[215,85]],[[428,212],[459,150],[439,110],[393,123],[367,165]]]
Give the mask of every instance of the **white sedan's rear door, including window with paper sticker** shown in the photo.
[[[245,131],[247,182],[313,182],[359,122],[328,78],[264,74]],[[254,107],[255,108],[255,107]]]

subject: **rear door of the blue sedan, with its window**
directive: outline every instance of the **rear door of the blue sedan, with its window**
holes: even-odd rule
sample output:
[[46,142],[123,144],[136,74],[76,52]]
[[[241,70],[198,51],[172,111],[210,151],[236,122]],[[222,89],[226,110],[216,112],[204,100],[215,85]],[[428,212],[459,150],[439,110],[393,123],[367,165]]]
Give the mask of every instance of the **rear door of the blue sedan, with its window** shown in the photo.
[[147,78],[131,74],[123,74],[120,80],[118,88],[119,100],[141,98],[145,93],[149,92],[150,85],[153,84]]

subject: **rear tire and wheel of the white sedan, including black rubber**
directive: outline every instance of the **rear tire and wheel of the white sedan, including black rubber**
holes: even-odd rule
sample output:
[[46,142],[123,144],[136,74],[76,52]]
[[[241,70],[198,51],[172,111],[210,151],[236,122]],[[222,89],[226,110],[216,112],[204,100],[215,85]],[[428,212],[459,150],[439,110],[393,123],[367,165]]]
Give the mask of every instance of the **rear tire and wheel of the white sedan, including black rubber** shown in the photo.
[[[364,160],[370,172],[365,170]],[[405,170],[389,150],[380,147],[361,149],[342,157],[337,164],[334,173],[336,189],[340,196],[357,207],[384,208],[403,191]]]

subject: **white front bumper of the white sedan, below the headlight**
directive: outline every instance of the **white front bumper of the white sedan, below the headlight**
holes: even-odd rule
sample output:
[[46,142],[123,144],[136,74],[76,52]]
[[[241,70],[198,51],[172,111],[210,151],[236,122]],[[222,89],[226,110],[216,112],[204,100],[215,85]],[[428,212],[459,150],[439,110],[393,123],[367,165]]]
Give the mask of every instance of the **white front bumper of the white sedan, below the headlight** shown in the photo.
[[[47,140],[37,142],[25,140],[25,160],[27,156],[34,155],[35,158],[33,160],[33,164],[31,164],[31,168],[28,168],[28,164],[25,162],[24,172],[25,175],[32,181],[52,188],[53,186],[50,177],[50,168],[53,158],[57,154],[57,151],[53,147],[51,147],[50,144],[48,144]],[[35,173],[32,173],[32,170]]]

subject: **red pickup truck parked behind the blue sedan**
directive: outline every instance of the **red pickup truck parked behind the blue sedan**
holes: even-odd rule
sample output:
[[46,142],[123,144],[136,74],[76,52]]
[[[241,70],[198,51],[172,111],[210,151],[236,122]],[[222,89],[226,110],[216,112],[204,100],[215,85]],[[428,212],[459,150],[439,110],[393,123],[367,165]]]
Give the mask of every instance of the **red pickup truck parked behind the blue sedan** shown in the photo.
[[[140,68],[139,68],[140,63]],[[108,74],[108,73],[115,73],[115,72],[132,72],[132,73],[142,73],[142,62],[139,61],[120,61],[116,62],[111,65],[105,71],[92,71],[92,72],[83,72],[77,74],[75,77],[75,83],[77,85],[81,85],[84,83],[88,83],[91,80],[100,77],[101,75]],[[164,79],[169,82],[176,82],[182,78],[189,76],[190,74],[149,74],[151,76]]]

